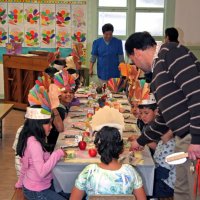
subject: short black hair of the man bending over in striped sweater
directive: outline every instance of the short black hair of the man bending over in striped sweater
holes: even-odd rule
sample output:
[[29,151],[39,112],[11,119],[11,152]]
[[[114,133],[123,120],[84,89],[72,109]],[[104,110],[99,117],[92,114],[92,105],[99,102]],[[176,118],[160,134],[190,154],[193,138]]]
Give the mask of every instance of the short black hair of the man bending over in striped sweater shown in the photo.
[[133,54],[133,49],[146,50],[149,47],[157,45],[155,39],[150,35],[150,33],[136,32],[128,37],[125,43],[125,49],[127,55]]

